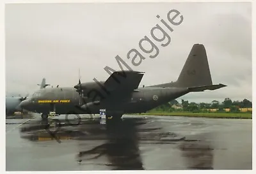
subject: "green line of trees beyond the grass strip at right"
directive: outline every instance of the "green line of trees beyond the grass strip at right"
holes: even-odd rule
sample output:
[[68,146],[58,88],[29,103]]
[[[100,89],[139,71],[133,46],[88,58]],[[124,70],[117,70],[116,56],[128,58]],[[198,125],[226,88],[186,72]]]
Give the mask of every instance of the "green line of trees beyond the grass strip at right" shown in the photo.
[[[176,105],[177,108],[172,107]],[[179,103],[176,99],[168,103],[154,108],[155,111],[161,112],[210,112],[210,109],[216,109],[216,112],[225,112],[224,109],[229,108],[229,112],[240,112],[239,108],[252,108],[252,101],[243,99],[243,101],[232,101],[230,98],[225,98],[222,102],[213,100],[211,103],[189,103],[188,100],[182,99]],[[252,112],[252,111],[250,111]]]

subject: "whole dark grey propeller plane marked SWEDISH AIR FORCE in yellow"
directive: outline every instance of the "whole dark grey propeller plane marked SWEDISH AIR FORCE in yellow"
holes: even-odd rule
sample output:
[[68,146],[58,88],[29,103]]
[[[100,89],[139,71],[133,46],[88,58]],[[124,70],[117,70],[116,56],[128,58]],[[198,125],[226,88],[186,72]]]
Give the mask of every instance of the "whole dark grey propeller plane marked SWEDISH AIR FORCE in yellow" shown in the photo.
[[115,71],[105,82],[79,83],[74,87],[40,89],[20,106],[31,112],[56,114],[95,114],[106,109],[106,117],[121,118],[124,113],[143,113],[189,92],[216,90],[212,85],[204,45],[195,44],[176,82],[138,87],[143,73]]

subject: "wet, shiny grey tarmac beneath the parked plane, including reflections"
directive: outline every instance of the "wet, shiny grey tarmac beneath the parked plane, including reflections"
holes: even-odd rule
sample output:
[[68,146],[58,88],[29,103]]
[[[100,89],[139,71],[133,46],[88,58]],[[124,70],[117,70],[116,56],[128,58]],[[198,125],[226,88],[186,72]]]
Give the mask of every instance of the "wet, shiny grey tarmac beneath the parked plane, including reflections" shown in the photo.
[[252,170],[252,120],[6,119],[6,171]]

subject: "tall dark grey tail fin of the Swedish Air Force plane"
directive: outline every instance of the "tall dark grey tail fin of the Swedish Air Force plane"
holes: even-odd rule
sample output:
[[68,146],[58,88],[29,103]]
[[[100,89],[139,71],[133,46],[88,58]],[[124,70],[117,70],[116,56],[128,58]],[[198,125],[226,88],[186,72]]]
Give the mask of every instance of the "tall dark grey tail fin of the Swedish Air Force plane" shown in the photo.
[[212,78],[204,45],[193,45],[177,80],[179,87],[212,85]]

